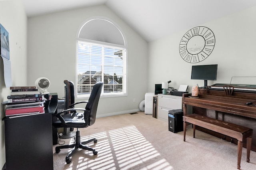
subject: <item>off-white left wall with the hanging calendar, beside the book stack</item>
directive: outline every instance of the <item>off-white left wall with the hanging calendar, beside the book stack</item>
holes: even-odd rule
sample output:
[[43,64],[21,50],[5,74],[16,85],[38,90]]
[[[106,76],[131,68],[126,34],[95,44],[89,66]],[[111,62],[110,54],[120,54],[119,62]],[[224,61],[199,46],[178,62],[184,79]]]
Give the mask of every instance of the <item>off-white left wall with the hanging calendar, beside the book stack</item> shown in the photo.
[[[27,83],[27,17],[21,0],[0,1],[0,24],[9,33],[10,61],[12,68],[12,85],[26,85]],[[4,69],[0,58],[0,102],[7,100],[10,88],[4,84]],[[5,163],[4,142],[4,105],[0,105],[0,168]]]

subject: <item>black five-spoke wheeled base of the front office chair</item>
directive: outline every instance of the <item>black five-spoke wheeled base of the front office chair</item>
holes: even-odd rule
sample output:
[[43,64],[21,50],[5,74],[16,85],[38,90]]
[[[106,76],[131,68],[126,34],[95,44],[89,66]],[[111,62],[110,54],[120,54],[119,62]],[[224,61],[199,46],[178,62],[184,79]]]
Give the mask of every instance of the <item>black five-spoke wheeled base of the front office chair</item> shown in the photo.
[[84,149],[84,150],[92,151],[92,153],[93,153],[94,155],[98,154],[98,152],[97,152],[95,149],[90,148],[90,147],[88,147],[88,146],[85,146],[85,144],[88,144],[88,143],[90,143],[90,142],[92,142],[92,141],[93,141],[94,143],[96,143],[96,142],[97,142],[97,139],[96,139],[96,138],[90,139],[90,140],[88,140],[88,141],[81,142],[80,131],[77,130],[77,131],[76,131],[76,138],[75,138],[75,141],[76,141],[75,144],[64,145],[64,146],[56,146],[56,148],[55,148],[55,152],[56,152],[56,153],[59,153],[59,152],[60,152],[60,149],[73,148],[73,149],[68,153],[68,155],[66,156],[66,163],[67,163],[67,164],[70,164],[70,162],[71,162],[70,156],[72,156],[72,154],[74,154],[74,152],[75,152],[78,148],[81,148],[81,149]]

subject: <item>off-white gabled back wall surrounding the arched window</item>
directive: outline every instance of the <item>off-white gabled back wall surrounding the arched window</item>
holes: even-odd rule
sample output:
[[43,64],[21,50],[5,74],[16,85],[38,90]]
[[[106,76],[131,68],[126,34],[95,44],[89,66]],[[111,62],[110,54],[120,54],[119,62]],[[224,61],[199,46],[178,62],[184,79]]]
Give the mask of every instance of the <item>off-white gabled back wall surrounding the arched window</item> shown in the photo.
[[138,111],[148,89],[148,44],[104,5],[28,18],[28,83],[47,77],[51,83],[48,91],[64,97],[63,81],[76,80],[77,30],[94,16],[118,24],[128,43],[128,96],[101,98],[97,117]]

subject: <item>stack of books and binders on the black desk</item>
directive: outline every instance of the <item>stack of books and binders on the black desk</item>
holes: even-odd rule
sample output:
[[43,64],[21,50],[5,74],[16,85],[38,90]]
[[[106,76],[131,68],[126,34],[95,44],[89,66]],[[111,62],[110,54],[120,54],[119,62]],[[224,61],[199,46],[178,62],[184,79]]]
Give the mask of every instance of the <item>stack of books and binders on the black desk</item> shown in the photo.
[[10,87],[6,117],[44,113],[44,96],[36,86]]

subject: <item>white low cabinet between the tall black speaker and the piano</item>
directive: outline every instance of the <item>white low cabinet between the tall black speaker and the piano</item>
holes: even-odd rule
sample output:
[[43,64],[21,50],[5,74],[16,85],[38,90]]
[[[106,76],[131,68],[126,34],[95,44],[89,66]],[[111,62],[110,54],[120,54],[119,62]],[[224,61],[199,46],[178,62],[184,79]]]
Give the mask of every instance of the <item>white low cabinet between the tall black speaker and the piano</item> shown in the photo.
[[182,109],[182,96],[158,94],[157,119],[168,122],[168,111]]

